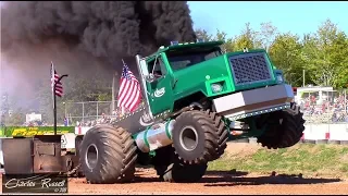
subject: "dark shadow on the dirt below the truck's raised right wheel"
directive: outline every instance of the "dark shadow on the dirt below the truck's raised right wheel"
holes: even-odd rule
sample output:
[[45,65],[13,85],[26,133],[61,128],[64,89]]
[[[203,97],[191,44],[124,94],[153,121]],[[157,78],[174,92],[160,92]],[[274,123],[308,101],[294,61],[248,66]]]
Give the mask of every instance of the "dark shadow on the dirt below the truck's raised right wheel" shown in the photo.
[[340,179],[306,179],[299,175],[272,173],[270,176],[245,176],[248,172],[240,171],[209,171],[199,183],[204,186],[235,186],[264,184],[323,184],[340,182]]

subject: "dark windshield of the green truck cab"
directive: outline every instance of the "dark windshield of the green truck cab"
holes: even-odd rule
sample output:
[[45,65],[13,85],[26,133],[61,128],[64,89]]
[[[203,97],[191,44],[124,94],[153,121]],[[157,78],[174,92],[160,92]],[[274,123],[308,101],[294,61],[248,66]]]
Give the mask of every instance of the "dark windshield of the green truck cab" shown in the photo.
[[166,53],[166,58],[173,71],[178,71],[190,65],[200,63],[221,56],[220,47],[214,48],[189,48],[173,50]]

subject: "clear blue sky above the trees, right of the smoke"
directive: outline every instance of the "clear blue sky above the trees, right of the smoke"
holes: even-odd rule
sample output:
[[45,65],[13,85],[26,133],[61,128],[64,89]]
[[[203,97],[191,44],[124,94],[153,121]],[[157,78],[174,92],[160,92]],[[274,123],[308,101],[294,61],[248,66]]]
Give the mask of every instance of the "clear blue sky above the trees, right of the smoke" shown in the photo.
[[188,1],[188,5],[195,29],[210,34],[219,28],[235,36],[247,22],[254,30],[262,22],[272,22],[281,33],[302,36],[315,33],[326,19],[348,34],[348,1]]

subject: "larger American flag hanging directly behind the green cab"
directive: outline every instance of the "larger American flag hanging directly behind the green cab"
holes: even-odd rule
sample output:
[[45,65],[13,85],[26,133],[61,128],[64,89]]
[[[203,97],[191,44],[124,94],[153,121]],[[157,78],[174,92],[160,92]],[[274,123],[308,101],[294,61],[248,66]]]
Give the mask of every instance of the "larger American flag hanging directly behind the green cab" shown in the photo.
[[141,89],[138,79],[128,69],[127,64],[122,60],[123,69],[120,82],[120,90],[117,98],[117,107],[126,108],[134,112],[141,101]]

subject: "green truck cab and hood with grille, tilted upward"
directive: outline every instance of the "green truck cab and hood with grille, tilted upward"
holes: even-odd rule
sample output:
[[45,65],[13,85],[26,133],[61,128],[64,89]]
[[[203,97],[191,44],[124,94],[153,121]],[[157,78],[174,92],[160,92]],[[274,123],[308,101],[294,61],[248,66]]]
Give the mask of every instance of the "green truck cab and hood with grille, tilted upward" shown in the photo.
[[[238,91],[285,84],[282,71],[272,64],[265,50],[224,53],[222,44],[172,41],[147,58],[136,56],[150,119],[191,102],[212,103]],[[288,88],[286,97],[293,96]]]

